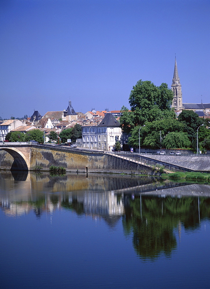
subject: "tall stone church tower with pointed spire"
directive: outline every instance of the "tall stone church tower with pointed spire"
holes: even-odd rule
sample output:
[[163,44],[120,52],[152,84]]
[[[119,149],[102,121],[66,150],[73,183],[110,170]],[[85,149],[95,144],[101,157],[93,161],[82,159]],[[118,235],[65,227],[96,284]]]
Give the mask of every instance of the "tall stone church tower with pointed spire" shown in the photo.
[[178,75],[176,57],[175,57],[174,77],[172,80],[171,89],[174,94],[173,103],[171,107],[175,108],[175,110],[181,110],[183,108],[182,107],[182,86],[180,84],[180,79]]

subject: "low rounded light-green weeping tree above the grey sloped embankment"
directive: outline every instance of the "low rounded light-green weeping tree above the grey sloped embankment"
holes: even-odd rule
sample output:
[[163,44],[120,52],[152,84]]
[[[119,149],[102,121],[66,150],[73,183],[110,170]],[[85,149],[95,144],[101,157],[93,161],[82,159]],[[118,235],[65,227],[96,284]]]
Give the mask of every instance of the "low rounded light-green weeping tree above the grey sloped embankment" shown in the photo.
[[182,131],[171,131],[163,140],[163,147],[166,149],[189,148],[192,142],[189,140],[187,133]]

